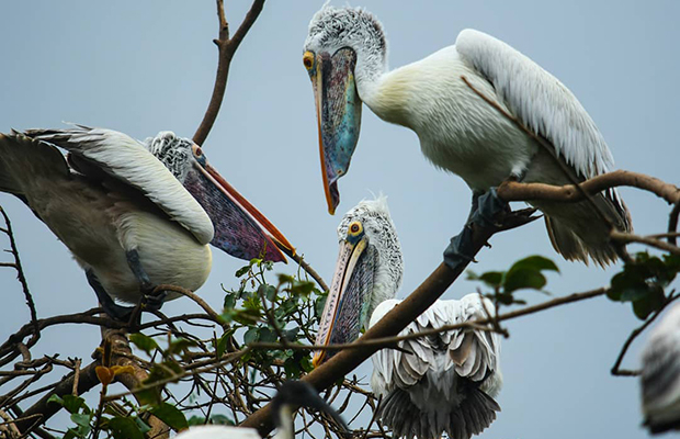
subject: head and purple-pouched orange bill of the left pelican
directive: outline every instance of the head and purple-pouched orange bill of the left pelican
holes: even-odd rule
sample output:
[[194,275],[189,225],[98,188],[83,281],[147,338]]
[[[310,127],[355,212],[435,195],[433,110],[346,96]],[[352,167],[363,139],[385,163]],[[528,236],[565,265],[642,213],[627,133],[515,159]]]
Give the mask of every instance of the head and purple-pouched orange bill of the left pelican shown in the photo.
[[199,145],[171,132],[145,143],[209,216],[213,246],[240,259],[285,261],[276,243],[292,250],[291,243],[208,164]]

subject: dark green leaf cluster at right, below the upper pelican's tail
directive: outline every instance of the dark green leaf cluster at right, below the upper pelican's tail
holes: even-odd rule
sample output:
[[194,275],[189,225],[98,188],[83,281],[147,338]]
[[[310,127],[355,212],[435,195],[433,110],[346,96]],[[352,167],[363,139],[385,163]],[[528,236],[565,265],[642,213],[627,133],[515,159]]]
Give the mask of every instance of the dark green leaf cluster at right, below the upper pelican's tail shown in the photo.
[[680,271],[680,257],[664,255],[660,258],[638,252],[632,262],[611,281],[608,297],[616,302],[631,302],[637,318],[646,319],[667,301],[666,289]]

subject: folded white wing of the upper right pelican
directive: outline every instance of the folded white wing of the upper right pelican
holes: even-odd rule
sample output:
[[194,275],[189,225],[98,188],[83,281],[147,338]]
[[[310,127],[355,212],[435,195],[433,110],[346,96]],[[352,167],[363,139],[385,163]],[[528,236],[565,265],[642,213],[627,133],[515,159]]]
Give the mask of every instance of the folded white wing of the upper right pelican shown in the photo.
[[545,137],[579,177],[592,178],[613,167],[612,154],[594,122],[557,78],[483,32],[462,31],[455,47],[491,82],[512,114]]

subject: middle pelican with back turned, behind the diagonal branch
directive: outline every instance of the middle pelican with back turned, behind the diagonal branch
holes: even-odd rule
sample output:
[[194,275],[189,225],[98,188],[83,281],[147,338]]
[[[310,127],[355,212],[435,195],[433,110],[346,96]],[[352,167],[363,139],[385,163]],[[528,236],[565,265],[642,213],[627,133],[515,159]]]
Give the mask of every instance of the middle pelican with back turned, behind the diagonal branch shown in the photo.
[[[371,327],[401,301],[394,296],[404,264],[385,198],[362,201],[338,227],[340,255],[319,323],[317,345],[351,342],[362,327]],[[400,335],[420,333],[494,313],[478,294],[460,301],[437,301]],[[369,319],[370,316],[370,319]],[[400,350],[373,354],[373,393],[382,396],[378,416],[395,438],[468,439],[496,419],[494,397],[502,376],[497,334],[447,330],[400,341]],[[319,365],[330,353],[315,352]]]

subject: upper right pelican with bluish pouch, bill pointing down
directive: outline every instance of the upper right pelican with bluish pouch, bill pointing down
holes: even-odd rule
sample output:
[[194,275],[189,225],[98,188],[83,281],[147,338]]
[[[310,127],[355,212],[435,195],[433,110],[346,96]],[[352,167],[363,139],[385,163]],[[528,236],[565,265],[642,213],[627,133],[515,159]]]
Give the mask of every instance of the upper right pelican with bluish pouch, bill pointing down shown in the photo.
[[[481,193],[507,179],[568,184],[566,171],[582,181],[613,167],[609,147],[576,97],[530,58],[485,33],[464,30],[455,45],[388,70],[387,41],[377,19],[362,9],[325,4],[309,23],[303,63],[314,89],[331,214],[340,202],[338,179],[348,172],[359,139],[362,102],[384,121],[415,131],[429,161],[463,178],[473,191],[473,212]],[[499,110],[549,148],[540,147]],[[545,214],[551,241],[564,258],[605,266],[616,259],[608,223],[628,232],[631,218],[615,190],[593,199],[597,209],[588,202],[531,204]]]

